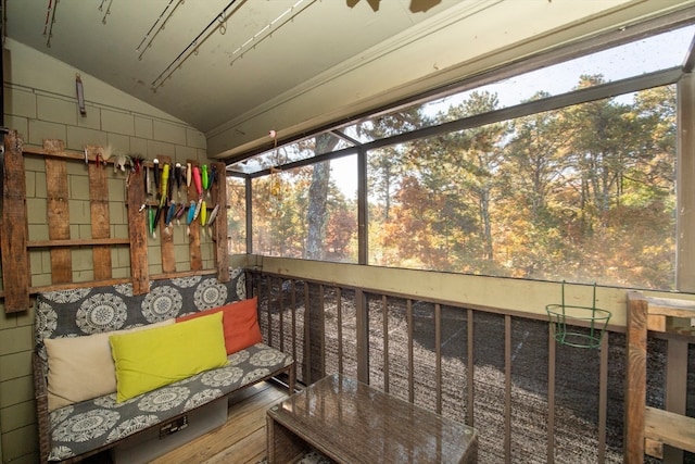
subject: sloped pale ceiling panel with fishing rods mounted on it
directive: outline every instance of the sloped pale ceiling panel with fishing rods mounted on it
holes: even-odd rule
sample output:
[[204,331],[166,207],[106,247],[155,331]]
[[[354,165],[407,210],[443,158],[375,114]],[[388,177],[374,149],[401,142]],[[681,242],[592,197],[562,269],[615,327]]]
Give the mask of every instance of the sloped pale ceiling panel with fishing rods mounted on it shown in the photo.
[[410,0],[8,0],[7,33],[205,133],[453,3],[414,13]]

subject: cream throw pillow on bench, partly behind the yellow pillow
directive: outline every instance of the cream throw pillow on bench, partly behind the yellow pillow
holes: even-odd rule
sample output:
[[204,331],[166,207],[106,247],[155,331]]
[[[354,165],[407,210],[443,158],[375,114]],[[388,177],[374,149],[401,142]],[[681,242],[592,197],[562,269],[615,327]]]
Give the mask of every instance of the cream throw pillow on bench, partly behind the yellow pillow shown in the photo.
[[116,391],[116,368],[109,337],[174,324],[167,319],[125,330],[83,337],[45,338],[48,354],[48,410]]

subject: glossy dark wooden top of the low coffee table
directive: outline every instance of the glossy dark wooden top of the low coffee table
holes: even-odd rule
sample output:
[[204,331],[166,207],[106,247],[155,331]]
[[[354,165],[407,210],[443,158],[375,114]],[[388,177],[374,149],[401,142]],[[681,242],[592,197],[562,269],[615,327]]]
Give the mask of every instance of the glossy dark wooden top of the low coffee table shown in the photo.
[[477,451],[473,428],[338,374],[268,415],[342,463],[467,463]]

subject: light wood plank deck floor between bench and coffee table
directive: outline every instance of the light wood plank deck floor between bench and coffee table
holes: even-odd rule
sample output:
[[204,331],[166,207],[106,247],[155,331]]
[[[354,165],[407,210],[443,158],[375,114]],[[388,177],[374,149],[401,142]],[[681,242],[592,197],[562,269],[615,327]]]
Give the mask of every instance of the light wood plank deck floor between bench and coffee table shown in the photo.
[[[185,446],[169,451],[151,464],[256,464],[266,456],[265,413],[287,398],[287,389],[262,383],[229,397],[227,424]],[[89,464],[111,464],[109,453],[92,456]]]

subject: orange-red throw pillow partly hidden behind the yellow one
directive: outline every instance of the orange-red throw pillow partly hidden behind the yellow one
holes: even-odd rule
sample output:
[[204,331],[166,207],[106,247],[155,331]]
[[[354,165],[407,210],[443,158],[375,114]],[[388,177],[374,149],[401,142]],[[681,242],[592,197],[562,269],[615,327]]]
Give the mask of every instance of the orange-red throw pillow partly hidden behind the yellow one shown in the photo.
[[263,341],[261,327],[258,327],[258,316],[256,315],[257,304],[258,297],[253,297],[248,300],[235,301],[224,306],[177,317],[176,322],[180,323],[222,311],[225,347],[227,348],[227,354],[231,354]]

